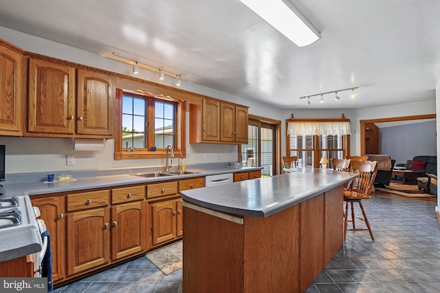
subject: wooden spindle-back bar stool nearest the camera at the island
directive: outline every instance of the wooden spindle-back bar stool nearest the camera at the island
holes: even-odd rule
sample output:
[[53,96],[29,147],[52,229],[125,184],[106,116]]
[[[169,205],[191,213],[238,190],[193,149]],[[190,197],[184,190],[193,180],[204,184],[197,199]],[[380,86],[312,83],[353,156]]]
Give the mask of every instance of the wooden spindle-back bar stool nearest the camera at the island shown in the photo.
[[[369,219],[366,217],[364,206],[362,205],[362,199],[370,199],[371,187],[377,174],[377,162],[371,161],[352,161],[351,171],[358,173],[359,177],[356,178],[348,190],[344,191],[344,241],[347,239],[347,230],[362,231],[369,230],[371,239],[374,240],[373,232],[371,230]],[[354,204],[358,203],[362,216],[355,215]],[[351,219],[349,219],[349,208],[351,208]],[[355,219],[365,221],[366,228],[356,228]],[[349,221],[353,228],[348,228]]]

